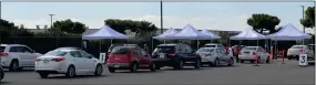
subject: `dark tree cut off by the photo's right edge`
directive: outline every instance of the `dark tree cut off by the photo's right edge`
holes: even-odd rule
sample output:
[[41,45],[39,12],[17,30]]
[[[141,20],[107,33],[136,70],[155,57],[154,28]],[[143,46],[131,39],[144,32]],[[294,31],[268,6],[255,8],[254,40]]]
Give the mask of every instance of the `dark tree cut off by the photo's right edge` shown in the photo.
[[315,7],[308,7],[305,10],[305,19],[300,19],[300,24],[306,28],[314,28],[315,26]]

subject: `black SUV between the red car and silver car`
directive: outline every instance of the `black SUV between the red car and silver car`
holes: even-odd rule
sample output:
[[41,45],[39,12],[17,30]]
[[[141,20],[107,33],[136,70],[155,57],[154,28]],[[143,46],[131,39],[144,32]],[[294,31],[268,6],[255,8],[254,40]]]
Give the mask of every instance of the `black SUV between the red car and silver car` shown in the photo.
[[182,70],[184,65],[201,67],[201,56],[186,44],[160,44],[152,53],[156,68],[172,66]]

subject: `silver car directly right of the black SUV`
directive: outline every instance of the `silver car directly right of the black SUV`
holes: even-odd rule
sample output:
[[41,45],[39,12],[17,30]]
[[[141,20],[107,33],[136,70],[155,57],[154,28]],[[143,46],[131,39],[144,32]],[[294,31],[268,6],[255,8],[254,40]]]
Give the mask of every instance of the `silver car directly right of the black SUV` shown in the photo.
[[202,57],[202,64],[208,64],[210,66],[234,65],[234,56],[228,55],[225,49],[201,47],[196,53]]

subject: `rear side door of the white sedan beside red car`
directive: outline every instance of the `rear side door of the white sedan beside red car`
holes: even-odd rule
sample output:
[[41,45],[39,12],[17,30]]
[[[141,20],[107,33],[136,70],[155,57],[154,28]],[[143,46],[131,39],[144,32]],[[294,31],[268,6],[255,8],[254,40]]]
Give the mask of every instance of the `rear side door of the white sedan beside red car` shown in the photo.
[[84,62],[84,57],[81,56],[79,51],[72,51],[70,52],[70,55],[73,56],[73,59],[71,60],[74,64],[75,71],[78,73],[84,73],[86,72],[86,65]]

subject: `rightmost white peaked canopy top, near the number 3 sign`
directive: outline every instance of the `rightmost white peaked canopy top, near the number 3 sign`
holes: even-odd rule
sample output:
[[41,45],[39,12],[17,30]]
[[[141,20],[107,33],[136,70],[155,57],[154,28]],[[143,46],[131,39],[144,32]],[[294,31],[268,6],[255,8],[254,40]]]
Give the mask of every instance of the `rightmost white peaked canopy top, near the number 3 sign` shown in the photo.
[[310,39],[309,34],[303,33],[298,31],[293,24],[288,23],[284,28],[282,28],[278,32],[266,35],[271,40],[281,40],[281,41],[288,41],[288,40],[303,40],[303,39]]

